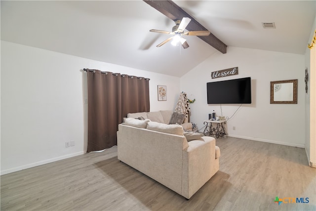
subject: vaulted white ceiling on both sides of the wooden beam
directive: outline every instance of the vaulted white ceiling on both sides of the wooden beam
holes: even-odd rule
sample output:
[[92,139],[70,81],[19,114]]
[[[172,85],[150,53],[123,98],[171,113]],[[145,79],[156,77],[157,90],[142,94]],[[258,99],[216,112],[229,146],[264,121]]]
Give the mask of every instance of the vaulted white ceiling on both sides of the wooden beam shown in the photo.
[[[305,52],[316,11],[315,0],[174,2],[228,46],[297,54]],[[149,30],[174,25],[142,0],[1,0],[1,40],[8,42],[177,77],[220,53],[195,36],[186,37],[187,49],[156,47],[169,35]]]

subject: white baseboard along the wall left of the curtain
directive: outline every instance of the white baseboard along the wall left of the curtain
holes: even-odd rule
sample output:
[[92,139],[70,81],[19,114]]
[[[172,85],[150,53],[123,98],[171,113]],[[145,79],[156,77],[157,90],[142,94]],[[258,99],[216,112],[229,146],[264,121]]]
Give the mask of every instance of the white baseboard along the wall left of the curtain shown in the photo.
[[51,159],[47,159],[47,160],[44,160],[44,161],[39,161],[39,162],[35,162],[35,163],[32,163],[32,164],[27,164],[27,165],[20,166],[20,167],[15,167],[15,168],[12,168],[12,169],[1,170],[0,175],[7,174],[7,173],[12,173],[12,172],[23,170],[23,169],[29,169],[29,168],[32,168],[32,167],[37,167],[37,166],[40,166],[40,165],[52,163],[52,162],[55,162],[55,161],[64,160],[66,158],[72,158],[72,157],[75,157],[75,156],[78,156],[78,155],[83,155],[83,154],[84,154],[84,152],[81,151],[81,152],[76,152],[76,153],[73,153],[73,154],[63,155],[63,156],[60,156],[60,157],[57,157],[57,158],[51,158]]

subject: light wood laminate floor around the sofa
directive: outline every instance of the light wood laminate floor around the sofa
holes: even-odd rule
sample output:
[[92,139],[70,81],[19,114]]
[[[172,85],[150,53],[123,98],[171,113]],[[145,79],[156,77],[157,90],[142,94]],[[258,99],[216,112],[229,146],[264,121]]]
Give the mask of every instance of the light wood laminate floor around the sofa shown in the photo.
[[[187,201],[117,159],[117,147],[1,176],[1,211],[316,210],[305,150],[219,138],[220,170]],[[154,164],[153,164],[154,165]],[[281,203],[279,198],[309,198]]]

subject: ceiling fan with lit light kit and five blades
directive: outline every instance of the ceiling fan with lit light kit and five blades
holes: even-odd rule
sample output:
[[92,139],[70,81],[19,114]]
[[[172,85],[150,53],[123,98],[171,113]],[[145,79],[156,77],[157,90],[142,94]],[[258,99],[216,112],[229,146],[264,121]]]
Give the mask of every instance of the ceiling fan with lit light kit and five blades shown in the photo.
[[162,30],[156,30],[156,29],[151,29],[149,30],[150,32],[158,32],[158,33],[163,33],[163,34],[169,34],[173,35],[173,37],[168,38],[167,40],[159,43],[157,47],[160,47],[161,45],[169,42],[172,40],[171,44],[177,45],[181,43],[183,48],[188,48],[189,44],[186,39],[182,37],[182,35],[189,35],[189,36],[209,36],[210,32],[209,31],[192,31],[192,32],[184,32],[185,28],[188,26],[190,23],[191,19],[190,18],[182,18],[182,20],[176,20],[175,21],[175,26],[172,27],[172,32],[168,31],[162,31]]

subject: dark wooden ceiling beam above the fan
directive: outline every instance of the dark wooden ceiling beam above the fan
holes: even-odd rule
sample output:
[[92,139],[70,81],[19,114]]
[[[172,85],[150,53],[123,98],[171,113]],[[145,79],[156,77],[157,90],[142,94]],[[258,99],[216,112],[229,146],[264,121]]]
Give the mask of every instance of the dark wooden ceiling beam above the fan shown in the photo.
[[[144,0],[146,3],[157,9],[159,12],[167,16],[173,21],[182,20],[183,17],[191,19],[189,25],[186,27],[188,31],[208,31],[200,23],[197,22],[191,15],[184,11],[172,0]],[[222,53],[227,52],[227,45],[215,37],[212,33],[209,36],[197,36],[202,41],[210,44],[215,49]]]

